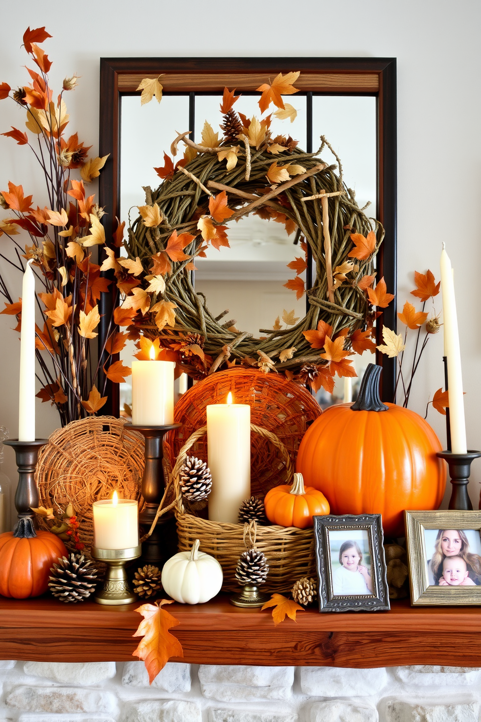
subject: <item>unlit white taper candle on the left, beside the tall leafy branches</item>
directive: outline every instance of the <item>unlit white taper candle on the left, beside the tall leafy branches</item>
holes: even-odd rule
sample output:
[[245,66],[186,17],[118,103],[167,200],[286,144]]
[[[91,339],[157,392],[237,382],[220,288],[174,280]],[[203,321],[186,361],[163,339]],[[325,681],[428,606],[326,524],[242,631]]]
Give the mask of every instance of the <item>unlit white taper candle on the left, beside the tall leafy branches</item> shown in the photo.
[[28,261],[22,284],[19,441],[35,441],[35,276]]

